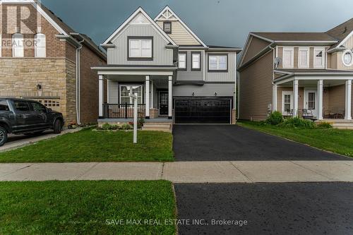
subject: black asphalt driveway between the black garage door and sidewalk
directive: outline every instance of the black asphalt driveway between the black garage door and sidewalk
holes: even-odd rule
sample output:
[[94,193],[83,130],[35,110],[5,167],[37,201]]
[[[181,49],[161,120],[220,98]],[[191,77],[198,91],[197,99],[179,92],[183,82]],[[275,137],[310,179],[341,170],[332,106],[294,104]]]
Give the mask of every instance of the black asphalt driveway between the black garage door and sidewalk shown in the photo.
[[231,125],[174,125],[177,161],[352,160]]

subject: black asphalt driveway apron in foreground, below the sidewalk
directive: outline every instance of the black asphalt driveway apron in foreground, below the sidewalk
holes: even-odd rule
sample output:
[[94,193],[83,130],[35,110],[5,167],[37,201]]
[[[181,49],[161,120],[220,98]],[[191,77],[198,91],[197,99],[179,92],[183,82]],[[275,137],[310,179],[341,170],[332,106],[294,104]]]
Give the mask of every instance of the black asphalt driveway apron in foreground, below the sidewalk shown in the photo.
[[186,221],[179,225],[181,235],[353,234],[352,183],[182,183],[174,187],[178,219]]

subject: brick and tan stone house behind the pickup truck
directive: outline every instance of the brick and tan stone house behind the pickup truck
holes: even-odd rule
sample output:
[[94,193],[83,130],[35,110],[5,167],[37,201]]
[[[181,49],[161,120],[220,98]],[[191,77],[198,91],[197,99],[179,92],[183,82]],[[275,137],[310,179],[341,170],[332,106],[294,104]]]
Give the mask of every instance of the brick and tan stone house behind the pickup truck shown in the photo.
[[107,56],[37,1],[0,0],[0,97],[42,102],[66,124],[97,123],[97,73]]

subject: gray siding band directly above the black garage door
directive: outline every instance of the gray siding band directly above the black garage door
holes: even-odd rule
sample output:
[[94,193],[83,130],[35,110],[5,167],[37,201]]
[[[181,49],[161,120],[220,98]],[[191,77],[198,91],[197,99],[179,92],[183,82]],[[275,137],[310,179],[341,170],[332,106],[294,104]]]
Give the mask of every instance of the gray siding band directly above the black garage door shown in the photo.
[[212,96],[217,97],[234,96],[234,84],[205,84],[205,85],[177,85],[173,87],[173,96]]

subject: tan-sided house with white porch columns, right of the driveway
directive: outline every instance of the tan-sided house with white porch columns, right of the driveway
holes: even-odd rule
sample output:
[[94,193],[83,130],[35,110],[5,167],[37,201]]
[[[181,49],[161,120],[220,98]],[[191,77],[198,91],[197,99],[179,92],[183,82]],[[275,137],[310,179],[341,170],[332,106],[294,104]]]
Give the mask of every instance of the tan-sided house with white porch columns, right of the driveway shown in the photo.
[[251,32],[238,68],[239,119],[279,111],[351,120],[352,35],[353,18],[328,32]]

